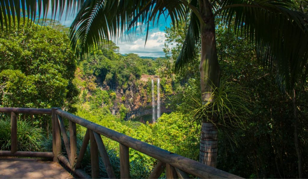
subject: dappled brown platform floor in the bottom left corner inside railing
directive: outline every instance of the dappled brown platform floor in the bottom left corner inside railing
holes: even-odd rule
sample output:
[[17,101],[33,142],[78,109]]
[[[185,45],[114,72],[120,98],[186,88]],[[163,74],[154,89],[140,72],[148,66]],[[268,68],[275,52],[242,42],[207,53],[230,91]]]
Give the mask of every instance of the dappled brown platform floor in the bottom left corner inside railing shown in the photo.
[[0,178],[73,178],[59,163],[33,158],[0,158]]

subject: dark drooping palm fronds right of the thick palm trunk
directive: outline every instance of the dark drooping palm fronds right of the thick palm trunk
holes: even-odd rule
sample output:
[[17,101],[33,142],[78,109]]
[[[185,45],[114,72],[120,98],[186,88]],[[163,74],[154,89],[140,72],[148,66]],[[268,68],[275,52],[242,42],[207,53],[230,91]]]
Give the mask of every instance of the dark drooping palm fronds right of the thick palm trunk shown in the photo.
[[[256,44],[257,56],[277,69],[282,91],[290,91],[304,73],[308,60],[308,16],[288,0],[217,1],[220,15],[236,33]],[[218,6],[218,5],[217,5]],[[273,65],[274,64],[274,65]]]

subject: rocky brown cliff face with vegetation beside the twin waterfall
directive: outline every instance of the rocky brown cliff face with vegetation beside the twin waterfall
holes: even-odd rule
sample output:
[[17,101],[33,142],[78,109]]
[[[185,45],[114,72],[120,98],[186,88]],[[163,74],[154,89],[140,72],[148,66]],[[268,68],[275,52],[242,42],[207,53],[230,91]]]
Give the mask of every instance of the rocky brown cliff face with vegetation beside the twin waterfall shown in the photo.
[[[113,115],[121,116],[121,119],[136,119],[145,115],[151,115],[152,122],[152,91],[154,106],[157,110],[157,81],[159,76],[141,75],[138,79],[130,76],[129,79],[121,81],[121,84],[106,82],[101,76],[84,75],[81,68],[75,72],[74,84],[81,89],[80,98],[82,104],[89,104],[88,110],[94,108],[108,108]],[[152,90],[153,80],[153,90]],[[116,81],[116,80],[115,80]],[[160,79],[160,113],[169,113],[164,106],[166,96],[172,95],[171,80]],[[87,105],[81,105],[87,106]],[[157,114],[157,113],[156,113]]]

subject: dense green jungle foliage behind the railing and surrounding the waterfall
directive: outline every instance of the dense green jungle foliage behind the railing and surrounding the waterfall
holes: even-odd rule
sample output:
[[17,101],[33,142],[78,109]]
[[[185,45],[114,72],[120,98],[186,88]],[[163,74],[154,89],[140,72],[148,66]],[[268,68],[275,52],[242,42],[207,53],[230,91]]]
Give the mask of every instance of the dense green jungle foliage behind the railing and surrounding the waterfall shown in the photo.
[[[198,58],[185,70],[174,73],[174,61],[184,41],[184,24],[179,24],[176,31],[166,29],[166,56],[155,59],[121,55],[119,48],[109,42],[77,60],[63,32],[38,26],[14,28],[1,36],[0,107],[61,107],[99,125],[198,161],[201,128],[196,111],[201,103]],[[303,177],[308,177],[308,80],[303,79],[296,87],[297,116],[294,117],[293,95],[283,93],[276,85],[275,65],[267,68],[258,61],[253,45],[249,45],[245,37],[218,25],[217,52],[221,76],[225,79],[221,91],[230,98],[241,94],[245,97],[241,98],[241,107],[234,106],[221,113],[217,126],[217,168],[245,178],[298,177],[293,126],[296,117]],[[147,76],[142,78],[143,75]],[[131,111],[140,108],[152,111],[149,76],[155,75],[161,79],[162,103],[172,112],[163,114],[153,124],[127,120]],[[157,86],[154,91],[157,96]],[[212,112],[209,108],[205,110]],[[7,116],[1,117],[1,150],[9,150],[10,123]],[[22,117],[18,119],[18,126],[25,130],[18,130],[23,139],[20,141],[30,143],[30,150],[51,150],[51,138],[46,137],[50,128],[48,118],[34,116],[35,122],[30,124],[30,117]],[[39,129],[31,134],[37,140],[23,138],[28,130],[34,131],[33,127]],[[77,129],[82,140],[85,129],[81,126]],[[106,138],[103,141],[115,171],[119,171],[118,143]],[[29,150],[26,146],[19,147],[19,150]],[[89,153],[87,151],[83,163],[87,172],[91,172],[87,166]],[[146,178],[157,161],[130,150],[130,162],[131,177]],[[104,167],[101,170],[100,177],[106,177]]]

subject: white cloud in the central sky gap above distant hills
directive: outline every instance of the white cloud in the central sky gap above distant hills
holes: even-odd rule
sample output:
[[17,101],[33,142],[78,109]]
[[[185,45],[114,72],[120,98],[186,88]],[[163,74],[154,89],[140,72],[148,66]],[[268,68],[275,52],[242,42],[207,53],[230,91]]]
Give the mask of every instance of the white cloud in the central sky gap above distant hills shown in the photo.
[[136,36],[132,41],[119,42],[120,53],[136,53],[139,56],[164,56],[163,48],[166,39],[165,33],[159,29],[151,29],[148,34],[147,43],[144,46],[146,35]]

